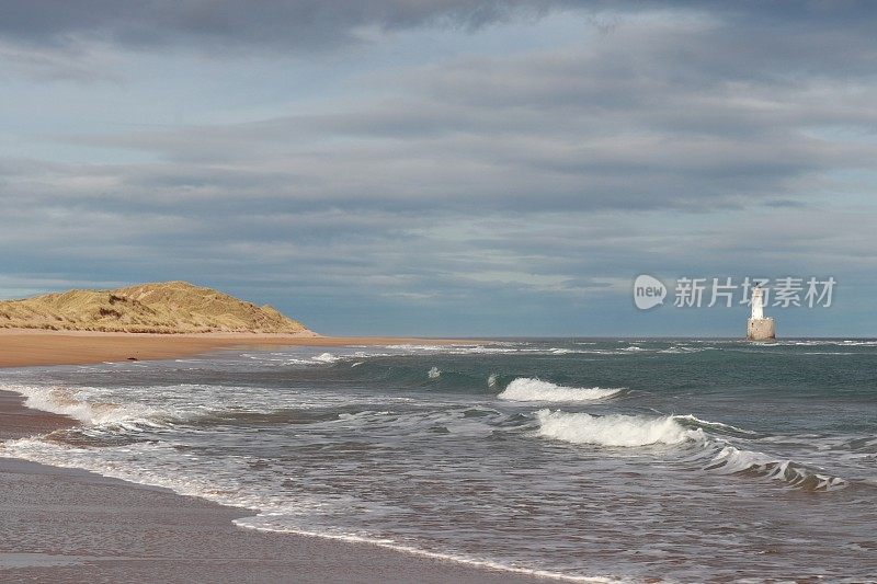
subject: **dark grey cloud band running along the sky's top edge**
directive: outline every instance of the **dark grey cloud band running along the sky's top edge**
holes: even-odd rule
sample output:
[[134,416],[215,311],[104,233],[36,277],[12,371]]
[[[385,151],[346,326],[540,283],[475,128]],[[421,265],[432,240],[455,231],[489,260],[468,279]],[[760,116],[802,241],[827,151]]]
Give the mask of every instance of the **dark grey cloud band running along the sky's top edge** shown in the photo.
[[613,30],[613,13],[651,10],[717,13],[738,25],[761,28],[763,34],[784,35],[839,27],[870,33],[877,14],[874,3],[866,1],[5,0],[0,36],[58,46],[91,39],[134,48],[200,46],[219,53],[247,47],[314,50],[362,42],[367,36],[363,30],[369,27],[379,31],[424,25],[477,28],[516,15],[533,18],[570,9],[593,14],[606,31]]

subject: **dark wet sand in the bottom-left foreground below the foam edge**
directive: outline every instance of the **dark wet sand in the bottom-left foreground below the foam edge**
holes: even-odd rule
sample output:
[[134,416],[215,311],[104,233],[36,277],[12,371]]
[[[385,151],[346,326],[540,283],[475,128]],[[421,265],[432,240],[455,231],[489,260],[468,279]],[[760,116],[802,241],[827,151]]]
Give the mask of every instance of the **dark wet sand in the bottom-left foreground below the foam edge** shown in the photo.
[[0,458],[0,581],[535,581],[231,524],[248,514],[163,489]]

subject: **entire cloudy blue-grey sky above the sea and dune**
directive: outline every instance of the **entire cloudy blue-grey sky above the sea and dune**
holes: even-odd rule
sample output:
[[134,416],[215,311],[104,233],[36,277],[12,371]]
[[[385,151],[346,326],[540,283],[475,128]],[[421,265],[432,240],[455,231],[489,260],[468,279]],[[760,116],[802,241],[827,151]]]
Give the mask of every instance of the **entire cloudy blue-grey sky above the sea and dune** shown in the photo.
[[877,336],[877,3],[0,13],[2,298],[185,279],[324,334],[741,336],[742,289],[677,307],[680,278],[793,277],[779,336]]

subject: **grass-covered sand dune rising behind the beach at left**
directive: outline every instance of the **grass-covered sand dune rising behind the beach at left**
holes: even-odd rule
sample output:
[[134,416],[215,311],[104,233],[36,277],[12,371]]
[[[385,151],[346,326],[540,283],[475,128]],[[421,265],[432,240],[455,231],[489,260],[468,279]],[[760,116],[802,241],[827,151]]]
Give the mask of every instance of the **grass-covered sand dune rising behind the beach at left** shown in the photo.
[[[0,328],[136,333],[308,334],[271,306],[187,282],[70,290],[0,301]],[[311,333],[312,334],[312,333]]]

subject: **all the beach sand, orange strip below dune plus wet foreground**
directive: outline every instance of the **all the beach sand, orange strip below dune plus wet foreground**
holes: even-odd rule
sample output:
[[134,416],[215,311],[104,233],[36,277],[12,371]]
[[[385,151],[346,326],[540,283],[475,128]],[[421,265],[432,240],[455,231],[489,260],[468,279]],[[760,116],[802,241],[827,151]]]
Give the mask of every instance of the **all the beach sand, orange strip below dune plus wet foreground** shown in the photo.
[[[2,366],[163,358],[230,346],[402,343],[402,339],[0,333]],[[422,342],[422,341],[420,341]],[[1,371],[0,371],[1,375]],[[0,391],[0,439],[76,421]],[[3,446],[0,445],[0,448]],[[166,489],[0,458],[4,582],[534,582],[540,579],[351,543],[236,527],[252,515]]]

